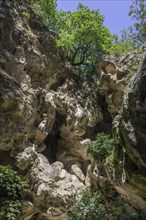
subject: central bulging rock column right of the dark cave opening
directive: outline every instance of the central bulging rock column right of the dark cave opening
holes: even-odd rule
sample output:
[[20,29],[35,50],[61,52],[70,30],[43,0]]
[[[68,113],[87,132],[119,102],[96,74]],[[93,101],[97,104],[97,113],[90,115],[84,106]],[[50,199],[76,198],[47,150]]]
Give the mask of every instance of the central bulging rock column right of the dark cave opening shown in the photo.
[[[46,100],[52,100],[58,114],[56,127],[59,131],[54,134],[58,134],[59,137],[56,149],[57,160],[63,162],[67,170],[74,163],[84,166],[87,158],[86,144],[82,137],[86,135],[87,127],[94,127],[103,120],[101,108],[95,101],[96,91],[89,88],[86,83],[78,88],[74,80],[66,80],[56,92],[48,92]],[[95,101],[94,107],[93,101]]]

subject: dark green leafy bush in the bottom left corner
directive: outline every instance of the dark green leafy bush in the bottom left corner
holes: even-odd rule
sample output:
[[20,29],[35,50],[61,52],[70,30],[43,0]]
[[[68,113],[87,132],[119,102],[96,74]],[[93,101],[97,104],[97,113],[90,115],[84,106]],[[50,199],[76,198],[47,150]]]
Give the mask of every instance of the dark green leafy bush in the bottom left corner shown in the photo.
[[21,201],[28,194],[28,184],[22,181],[10,166],[0,166],[0,214],[7,220],[15,220],[20,213]]

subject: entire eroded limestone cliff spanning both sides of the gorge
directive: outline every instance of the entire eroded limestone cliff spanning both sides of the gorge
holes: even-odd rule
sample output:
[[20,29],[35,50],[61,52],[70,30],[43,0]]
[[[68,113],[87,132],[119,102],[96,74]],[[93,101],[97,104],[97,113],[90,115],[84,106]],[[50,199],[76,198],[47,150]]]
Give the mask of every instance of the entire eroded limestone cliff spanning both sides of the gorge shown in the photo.
[[0,163],[17,169],[32,192],[19,219],[65,219],[59,208],[70,208],[73,195],[98,185],[85,149],[98,132],[112,133],[112,120],[121,139],[119,160],[123,148],[127,181],[140,183],[143,208],[145,69],[127,86],[142,57],[105,57],[98,82],[79,82],[26,1],[0,1]]

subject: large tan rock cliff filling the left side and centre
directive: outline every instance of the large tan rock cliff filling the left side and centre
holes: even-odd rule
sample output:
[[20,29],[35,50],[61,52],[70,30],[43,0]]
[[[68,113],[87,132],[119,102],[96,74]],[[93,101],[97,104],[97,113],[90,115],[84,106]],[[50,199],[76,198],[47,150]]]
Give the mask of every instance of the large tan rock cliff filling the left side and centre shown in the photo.
[[95,136],[104,121],[97,88],[78,86],[27,3],[0,1],[0,18],[0,151],[25,173],[33,200],[25,202],[21,219],[64,219],[59,207],[69,207],[85,187],[88,130]]

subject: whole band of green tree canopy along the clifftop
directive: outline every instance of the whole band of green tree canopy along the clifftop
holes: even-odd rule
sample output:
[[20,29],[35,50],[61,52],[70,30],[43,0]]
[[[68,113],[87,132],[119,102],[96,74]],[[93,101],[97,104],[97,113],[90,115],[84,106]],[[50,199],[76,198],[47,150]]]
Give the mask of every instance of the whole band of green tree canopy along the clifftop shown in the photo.
[[57,36],[56,42],[64,47],[73,66],[82,75],[95,75],[94,63],[104,54],[126,54],[139,48],[146,39],[145,0],[133,0],[129,16],[134,26],[122,30],[121,38],[112,35],[103,25],[99,10],[79,4],[76,11],[57,10],[57,0],[32,0],[32,8],[49,30]]

